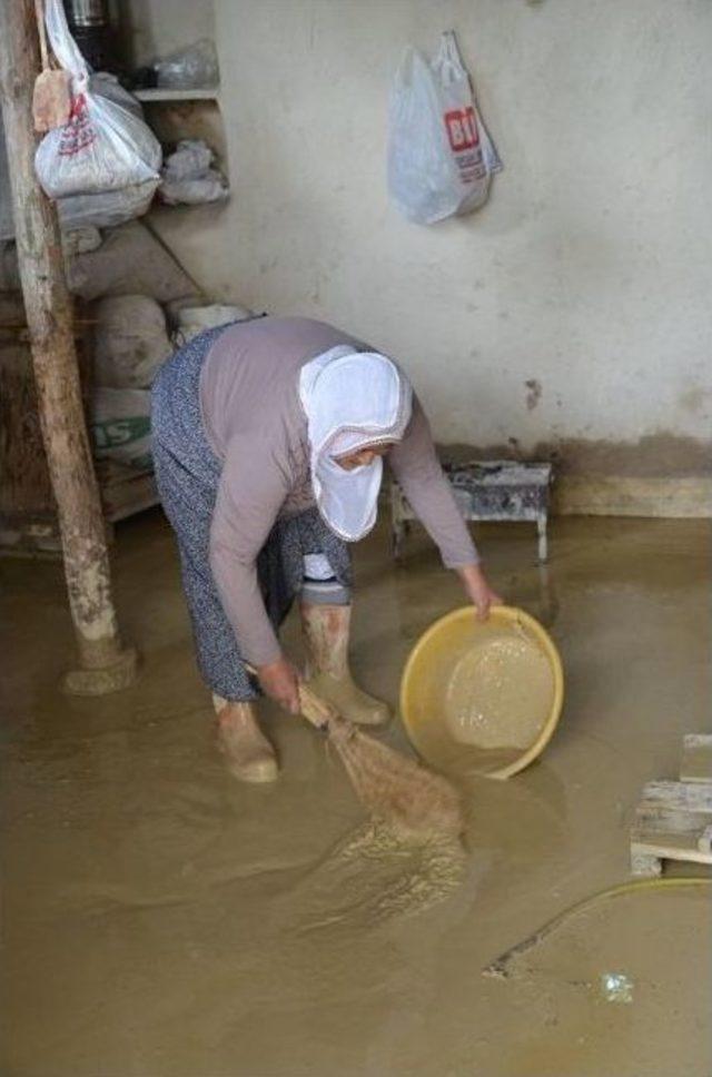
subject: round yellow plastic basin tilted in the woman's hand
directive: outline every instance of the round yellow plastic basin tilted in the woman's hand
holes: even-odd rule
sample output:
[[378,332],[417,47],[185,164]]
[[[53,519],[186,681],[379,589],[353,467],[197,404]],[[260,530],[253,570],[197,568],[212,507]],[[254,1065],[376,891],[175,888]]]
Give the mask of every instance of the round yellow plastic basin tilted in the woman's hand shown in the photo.
[[561,714],[558,651],[538,621],[495,606],[454,610],[415,644],[400,682],[414,748],[452,774],[510,778],[540,755]]

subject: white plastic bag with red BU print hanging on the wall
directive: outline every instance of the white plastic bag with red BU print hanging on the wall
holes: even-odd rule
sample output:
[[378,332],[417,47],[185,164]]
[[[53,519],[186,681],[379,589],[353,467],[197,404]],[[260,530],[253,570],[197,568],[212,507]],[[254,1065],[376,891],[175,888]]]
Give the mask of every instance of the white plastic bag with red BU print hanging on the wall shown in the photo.
[[431,63],[417,49],[403,58],[390,97],[388,190],[417,224],[481,206],[502,162],[475,105],[452,31]]

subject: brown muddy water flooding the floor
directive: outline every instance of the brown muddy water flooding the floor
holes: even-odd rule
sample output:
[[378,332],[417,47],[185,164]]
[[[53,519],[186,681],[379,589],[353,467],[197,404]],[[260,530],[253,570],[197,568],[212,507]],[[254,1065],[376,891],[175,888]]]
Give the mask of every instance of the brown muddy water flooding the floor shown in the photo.
[[[560,520],[543,586],[526,526],[481,528],[497,590],[551,628],[566,702],[541,762],[463,787],[464,849],[370,826],[320,735],[269,708],[280,780],[230,779],[158,513],[115,551],[144,655],[120,695],[58,694],[60,571],[1,563],[2,1077],[710,1077],[706,891],[594,903],[482,975],[629,879],[641,787],[710,728],[709,534]],[[354,665],[395,702],[457,581],[417,535],[395,570],[383,532],[357,581]],[[380,735],[405,750],[397,723]]]

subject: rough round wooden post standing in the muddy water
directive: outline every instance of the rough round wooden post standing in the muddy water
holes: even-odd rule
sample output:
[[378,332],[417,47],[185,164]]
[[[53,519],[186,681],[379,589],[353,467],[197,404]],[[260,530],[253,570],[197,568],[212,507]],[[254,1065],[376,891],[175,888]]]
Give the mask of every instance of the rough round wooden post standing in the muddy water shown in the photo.
[[99,695],[130,684],[136,652],[121,646],[111,600],[99,487],[81,403],[57,209],[34,175],[32,88],[39,73],[33,0],[0,0],[0,97],[22,295],[42,439],[62,537],[79,669],[66,691]]

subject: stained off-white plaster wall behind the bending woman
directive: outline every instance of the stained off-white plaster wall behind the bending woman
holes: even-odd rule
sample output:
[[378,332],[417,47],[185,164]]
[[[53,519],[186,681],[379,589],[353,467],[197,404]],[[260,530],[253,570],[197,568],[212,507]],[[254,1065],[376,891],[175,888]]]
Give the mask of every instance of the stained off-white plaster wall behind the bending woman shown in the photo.
[[[196,30],[207,8],[154,6]],[[451,27],[505,171],[418,227],[387,200],[387,92],[404,46]],[[216,0],[215,31],[233,200],[162,226],[195,276],[393,353],[441,442],[700,496],[709,0]]]

